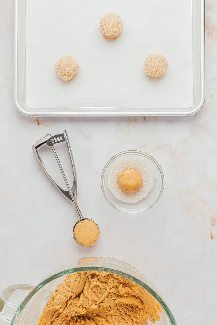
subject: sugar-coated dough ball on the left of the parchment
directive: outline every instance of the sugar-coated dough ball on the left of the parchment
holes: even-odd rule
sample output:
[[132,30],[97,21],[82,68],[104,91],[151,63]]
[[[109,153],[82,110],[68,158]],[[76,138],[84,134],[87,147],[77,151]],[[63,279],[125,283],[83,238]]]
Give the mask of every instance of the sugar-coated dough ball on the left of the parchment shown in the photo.
[[79,70],[78,62],[70,55],[64,55],[54,65],[54,70],[59,78],[64,81],[73,79]]

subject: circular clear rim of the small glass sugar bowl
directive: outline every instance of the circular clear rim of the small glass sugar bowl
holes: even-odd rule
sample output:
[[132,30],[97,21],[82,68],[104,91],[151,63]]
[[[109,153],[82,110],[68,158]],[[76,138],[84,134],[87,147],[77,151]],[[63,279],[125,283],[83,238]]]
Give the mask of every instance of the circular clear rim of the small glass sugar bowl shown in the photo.
[[[104,178],[105,178],[105,174],[106,174],[107,169],[109,168],[109,166],[115,161],[115,159],[117,159],[117,158],[119,158],[121,156],[128,155],[128,154],[137,154],[137,155],[140,155],[140,156],[143,156],[143,157],[147,158],[150,162],[152,162],[153,165],[155,165],[156,169],[159,172],[160,178],[161,178],[160,192],[159,192],[158,196],[156,197],[155,201],[152,204],[150,204],[149,206],[146,206],[145,208],[142,208],[142,209],[140,209],[138,211],[129,211],[127,209],[118,207],[112,201],[110,201],[110,199],[107,196],[107,194],[105,193],[105,189],[104,189]],[[119,211],[125,212],[125,213],[130,213],[130,214],[141,213],[141,212],[144,212],[144,211],[152,208],[160,200],[161,195],[163,194],[163,190],[164,190],[164,174],[163,174],[163,171],[162,171],[159,163],[152,156],[150,156],[148,153],[143,152],[143,151],[139,151],[139,150],[126,150],[126,151],[121,151],[121,152],[117,153],[115,156],[113,156],[106,163],[105,167],[103,168],[102,175],[101,175],[101,189],[102,189],[102,193],[103,193],[106,201],[109,202],[109,204],[111,206],[113,206],[113,208],[115,208],[115,209],[117,209]]]

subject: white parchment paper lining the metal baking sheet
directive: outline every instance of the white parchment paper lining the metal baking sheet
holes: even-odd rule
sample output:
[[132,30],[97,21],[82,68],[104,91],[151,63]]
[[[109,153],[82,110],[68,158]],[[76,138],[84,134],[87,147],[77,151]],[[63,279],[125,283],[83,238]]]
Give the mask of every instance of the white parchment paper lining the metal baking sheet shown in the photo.
[[[122,34],[104,38],[100,18],[115,12]],[[193,105],[190,0],[26,0],[26,104],[31,108],[183,108]],[[163,54],[169,69],[147,77],[146,57]],[[63,55],[78,60],[69,82],[54,72]]]

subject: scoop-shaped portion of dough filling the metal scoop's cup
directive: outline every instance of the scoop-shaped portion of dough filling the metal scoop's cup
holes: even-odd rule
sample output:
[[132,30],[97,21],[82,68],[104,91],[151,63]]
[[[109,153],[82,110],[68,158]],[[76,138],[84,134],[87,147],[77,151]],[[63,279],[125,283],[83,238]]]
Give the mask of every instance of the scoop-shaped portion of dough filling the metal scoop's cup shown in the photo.
[[99,239],[100,230],[90,219],[78,221],[73,229],[73,237],[82,246],[93,246]]

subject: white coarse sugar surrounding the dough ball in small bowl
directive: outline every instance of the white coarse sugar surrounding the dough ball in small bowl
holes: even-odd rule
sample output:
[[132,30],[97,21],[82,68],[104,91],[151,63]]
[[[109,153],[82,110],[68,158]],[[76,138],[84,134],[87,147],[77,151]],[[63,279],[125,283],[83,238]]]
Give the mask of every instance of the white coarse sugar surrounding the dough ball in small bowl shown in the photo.
[[[129,168],[138,170],[142,175],[142,187],[134,193],[124,192],[118,184],[118,174]],[[117,162],[111,169],[108,176],[108,186],[110,188],[110,191],[116,199],[125,203],[136,203],[138,201],[141,201],[148,195],[148,193],[153,188],[153,185],[154,176],[152,172],[142,160],[135,158],[125,158],[124,160]]]

